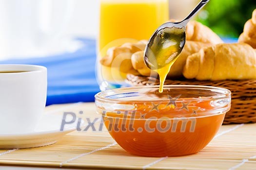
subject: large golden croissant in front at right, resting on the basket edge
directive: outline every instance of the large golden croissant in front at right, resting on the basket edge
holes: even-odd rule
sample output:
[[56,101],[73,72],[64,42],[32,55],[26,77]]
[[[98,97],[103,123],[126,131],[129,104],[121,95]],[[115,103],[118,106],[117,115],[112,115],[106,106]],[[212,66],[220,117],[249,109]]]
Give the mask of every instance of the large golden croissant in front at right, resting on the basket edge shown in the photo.
[[203,48],[188,56],[183,75],[211,81],[256,79],[256,50],[245,43]]

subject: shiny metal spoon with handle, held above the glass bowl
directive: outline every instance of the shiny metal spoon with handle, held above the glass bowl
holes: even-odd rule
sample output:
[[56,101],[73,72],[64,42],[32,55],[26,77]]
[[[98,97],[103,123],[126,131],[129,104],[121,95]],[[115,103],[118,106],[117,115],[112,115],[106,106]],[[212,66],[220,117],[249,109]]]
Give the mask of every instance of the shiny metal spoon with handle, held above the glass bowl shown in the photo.
[[176,61],[186,41],[186,25],[209,0],[201,0],[197,7],[181,22],[166,22],[154,32],[144,52],[148,68],[157,70]]

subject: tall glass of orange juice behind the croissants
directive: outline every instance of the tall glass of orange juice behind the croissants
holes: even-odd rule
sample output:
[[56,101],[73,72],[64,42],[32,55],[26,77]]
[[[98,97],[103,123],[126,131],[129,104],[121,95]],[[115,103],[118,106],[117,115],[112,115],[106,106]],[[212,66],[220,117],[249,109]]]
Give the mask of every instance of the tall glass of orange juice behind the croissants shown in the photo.
[[[125,85],[131,61],[119,67],[104,66],[100,59],[111,47],[148,40],[169,19],[168,0],[100,0],[97,79],[101,90]],[[127,63],[125,63],[127,62]]]

